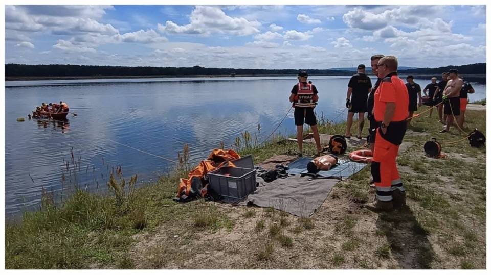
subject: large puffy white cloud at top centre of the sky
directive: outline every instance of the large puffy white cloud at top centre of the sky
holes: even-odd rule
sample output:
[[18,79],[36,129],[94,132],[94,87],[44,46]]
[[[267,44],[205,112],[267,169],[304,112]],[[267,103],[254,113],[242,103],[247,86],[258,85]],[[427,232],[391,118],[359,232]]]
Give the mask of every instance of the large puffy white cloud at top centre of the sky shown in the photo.
[[245,36],[259,33],[261,23],[249,21],[243,17],[230,17],[218,7],[196,6],[191,13],[190,23],[179,26],[172,21],[166,21],[165,26],[158,24],[160,32],[170,34],[201,34],[211,35],[223,33]]

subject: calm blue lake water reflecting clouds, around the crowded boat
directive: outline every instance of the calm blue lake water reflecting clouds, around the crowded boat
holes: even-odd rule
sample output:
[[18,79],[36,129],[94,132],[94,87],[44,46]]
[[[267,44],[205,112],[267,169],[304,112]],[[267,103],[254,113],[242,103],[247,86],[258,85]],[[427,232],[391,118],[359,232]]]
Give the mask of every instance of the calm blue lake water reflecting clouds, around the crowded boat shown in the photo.
[[[319,90],[318,114],[332,121],[346,119],[349,78],[309,78]],[[374,84],[376,78],[371,78]],[[485,82],[467,80],[476,90],[471,101],[486,97]],[[6,213],[35,209],[42,188],[58,196],[69,194],[75,182],[80,188],[107,190],[108,170],[119,165],[124,176],[138,174],[139,182],[150,182],[173,166],[163,158],[176,161],[184,143],[189,144],[195,162],[206,158],[220,141],[233,144],[245,130],[256,133],[258,123],[262,140],[291,106],[288,96],[296,81],[295,76],[9,81],[5,89]],[[424,88],[430,77],[416,77],[415,82]],[[69,123],[16,121],[27,118],[41,102],[60,100],[78,114],[69,115]],[[278,131],[292,134],[295,129],[292,111]],[[67,176],[62,182],[64,162],[71,160],[72,148],[80,172],[76,180]]]

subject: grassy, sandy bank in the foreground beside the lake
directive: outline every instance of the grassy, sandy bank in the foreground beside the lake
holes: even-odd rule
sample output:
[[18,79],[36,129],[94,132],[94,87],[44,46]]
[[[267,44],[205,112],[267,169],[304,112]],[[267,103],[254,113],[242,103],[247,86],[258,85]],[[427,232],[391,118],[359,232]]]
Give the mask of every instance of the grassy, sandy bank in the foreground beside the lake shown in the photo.
[[[6,268],[486,268],[485,148],[442,144],[447,158],[425,157],[422,144],[430,138],[464,137],[453,128],[438,133],[433,116],[413,120],[406,140],[414,145],[397,160],[408,190],[403,211],[361,208],[373,197],[369,166],[339,182],[310,218],[202,200],[175,203],[184,166],[124,193],[116,172],[113,195],[76,191],[57,206],[46,193],[41,211],[7,224]],[[485,111],[467,111],[467,121],[485,133]],[[344,127],[323,123],[320,132],[340,134]],[[242,143],[240,154],[260,163],[297,153],[294,142],[278,144],[279,138],[261,148]],[[314,154],[315,145],[304,150]]]

